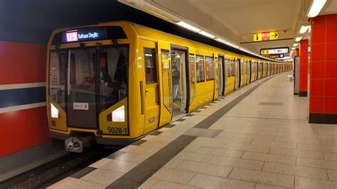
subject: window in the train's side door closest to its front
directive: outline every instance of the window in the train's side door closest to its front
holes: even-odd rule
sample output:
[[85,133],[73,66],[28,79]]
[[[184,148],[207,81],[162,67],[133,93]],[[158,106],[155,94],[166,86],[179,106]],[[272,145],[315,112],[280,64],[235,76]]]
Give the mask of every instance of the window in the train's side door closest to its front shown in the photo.
[[144,48],[144,63],[145,63],[146,84],[156,83],[157,82],[156,49]]

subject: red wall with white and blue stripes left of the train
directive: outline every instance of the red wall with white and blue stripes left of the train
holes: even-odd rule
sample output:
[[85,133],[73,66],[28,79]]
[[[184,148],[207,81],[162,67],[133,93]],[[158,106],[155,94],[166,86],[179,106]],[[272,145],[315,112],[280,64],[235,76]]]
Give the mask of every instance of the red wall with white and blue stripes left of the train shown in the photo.
[[49,140],[46,45],[0,41],[0,157]]

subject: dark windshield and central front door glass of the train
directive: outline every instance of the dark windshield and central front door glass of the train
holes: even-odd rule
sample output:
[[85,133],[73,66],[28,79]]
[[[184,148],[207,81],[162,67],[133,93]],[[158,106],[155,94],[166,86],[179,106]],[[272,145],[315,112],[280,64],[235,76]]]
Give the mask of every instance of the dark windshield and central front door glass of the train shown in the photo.
[[127,97],[128,55],[126,46],[50,51],[49,94],[67,112],[69,126],[96,125],[85,117]]

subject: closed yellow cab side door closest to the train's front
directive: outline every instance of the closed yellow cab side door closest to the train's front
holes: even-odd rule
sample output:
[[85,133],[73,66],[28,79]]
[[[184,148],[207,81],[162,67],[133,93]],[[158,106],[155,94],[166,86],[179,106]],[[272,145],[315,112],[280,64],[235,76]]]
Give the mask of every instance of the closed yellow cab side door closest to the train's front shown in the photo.
[[159,126],[159,83],[157,73],[157,50],[153,41],[141,41],[145,70],[144,132]]

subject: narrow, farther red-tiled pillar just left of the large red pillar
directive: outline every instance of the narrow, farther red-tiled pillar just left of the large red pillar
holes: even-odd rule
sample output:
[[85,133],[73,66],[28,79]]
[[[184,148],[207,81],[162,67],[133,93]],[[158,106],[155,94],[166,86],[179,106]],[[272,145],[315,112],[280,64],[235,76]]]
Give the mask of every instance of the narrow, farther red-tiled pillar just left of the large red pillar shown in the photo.
[[299,97],[308,94],[308,40],[299,42]]

